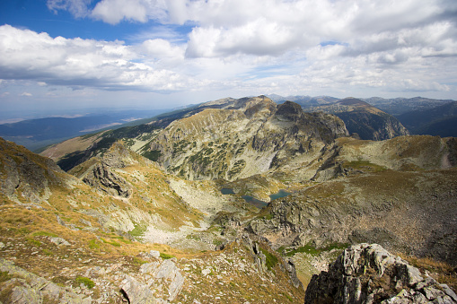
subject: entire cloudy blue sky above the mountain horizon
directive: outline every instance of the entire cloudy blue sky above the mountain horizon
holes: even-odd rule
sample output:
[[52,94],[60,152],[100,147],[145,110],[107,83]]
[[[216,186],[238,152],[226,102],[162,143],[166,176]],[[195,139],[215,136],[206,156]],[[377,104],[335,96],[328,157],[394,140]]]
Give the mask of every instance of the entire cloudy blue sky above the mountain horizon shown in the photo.
[[455,0],[1,0],[0,112],[457,100]]

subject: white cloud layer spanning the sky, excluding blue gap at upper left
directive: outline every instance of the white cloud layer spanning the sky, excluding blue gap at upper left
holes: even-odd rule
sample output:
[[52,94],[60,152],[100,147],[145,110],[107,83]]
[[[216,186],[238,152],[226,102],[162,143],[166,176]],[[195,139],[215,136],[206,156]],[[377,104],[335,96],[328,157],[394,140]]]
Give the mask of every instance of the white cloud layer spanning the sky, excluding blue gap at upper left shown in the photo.
[[110,24],[154,20],[154,28],[126,45],[3,26],[2,77],[249,95],[457,91],[455,0],[101,0],[92,11],[89,4],[48,0],[55,12]]

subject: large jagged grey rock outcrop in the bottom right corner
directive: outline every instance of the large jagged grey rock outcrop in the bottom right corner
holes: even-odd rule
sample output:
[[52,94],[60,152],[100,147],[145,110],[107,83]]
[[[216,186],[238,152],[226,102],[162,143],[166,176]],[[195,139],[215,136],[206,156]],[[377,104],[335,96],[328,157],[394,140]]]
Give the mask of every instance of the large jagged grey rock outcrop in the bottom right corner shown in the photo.
[[381,246],[360,244],[312,276],[304,303],[457,303],[457,296]]

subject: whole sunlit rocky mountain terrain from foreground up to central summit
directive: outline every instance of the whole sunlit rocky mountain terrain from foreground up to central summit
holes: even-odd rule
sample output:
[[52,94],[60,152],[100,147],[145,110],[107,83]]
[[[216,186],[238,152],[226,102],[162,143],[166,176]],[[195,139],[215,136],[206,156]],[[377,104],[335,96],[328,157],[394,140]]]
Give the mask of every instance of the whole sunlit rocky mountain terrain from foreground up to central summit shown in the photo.
[[0,303],[454,303],[457,139],[319,104],[215,100],[41,155],[0,139]]

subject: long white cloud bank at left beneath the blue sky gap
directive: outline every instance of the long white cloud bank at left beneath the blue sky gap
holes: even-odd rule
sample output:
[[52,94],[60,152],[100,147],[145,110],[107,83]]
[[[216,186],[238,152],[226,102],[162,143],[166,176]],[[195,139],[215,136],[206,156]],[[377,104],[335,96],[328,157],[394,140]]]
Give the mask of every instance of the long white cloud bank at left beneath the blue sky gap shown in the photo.
[[[170,45],[166,51],[171,56],[178,52]],[[193,83],[175,72],[138,62],[141,58],[135,49],[119,41],[53,39],[46,33],[4,25],[0,27],[0,53],[4,55],[0,56],[0,74],[5,79],[146,91],[182,90]]]

